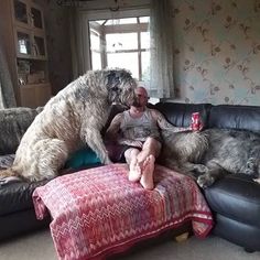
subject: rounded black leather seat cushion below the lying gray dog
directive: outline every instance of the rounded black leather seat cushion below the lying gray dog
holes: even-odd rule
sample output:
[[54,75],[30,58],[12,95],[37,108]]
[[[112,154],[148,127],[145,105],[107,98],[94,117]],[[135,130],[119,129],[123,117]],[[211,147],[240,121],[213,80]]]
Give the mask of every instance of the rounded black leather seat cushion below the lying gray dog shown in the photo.
[[260,185],[245,174],[230,174],[205,189],[210,208],[260,228]]

